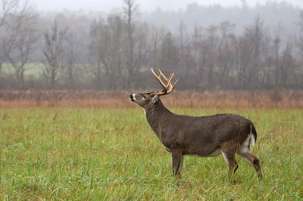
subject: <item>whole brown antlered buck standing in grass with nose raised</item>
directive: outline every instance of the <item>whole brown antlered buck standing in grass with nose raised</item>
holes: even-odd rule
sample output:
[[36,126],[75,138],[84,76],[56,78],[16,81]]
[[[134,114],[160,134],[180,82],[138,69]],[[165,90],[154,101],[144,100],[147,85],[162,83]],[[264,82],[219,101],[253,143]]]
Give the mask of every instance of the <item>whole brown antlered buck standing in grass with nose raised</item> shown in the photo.
[[[181,176],[183,159],[186,155],[216,157],[221,154],[231,176],[238,169],[235,159],[235,155],[238,154],[253,165],[258,178],[262,179],[259,159],[252,155],[249,149],[250,144],[254,146],[257,140],[257,132],[251,120],[237,114],[201,117],[174,114],[162,104],[159,96],[170,94],[178,80],[172,85],[173,72],[167,79],[159,69],[159,76],[152,69],[151,71],[163,90],[129,94],[129,99],[143,108],[151,129],[166,150],[171,152],[174,176]],[[161,77],[167,83],[166,85]]]

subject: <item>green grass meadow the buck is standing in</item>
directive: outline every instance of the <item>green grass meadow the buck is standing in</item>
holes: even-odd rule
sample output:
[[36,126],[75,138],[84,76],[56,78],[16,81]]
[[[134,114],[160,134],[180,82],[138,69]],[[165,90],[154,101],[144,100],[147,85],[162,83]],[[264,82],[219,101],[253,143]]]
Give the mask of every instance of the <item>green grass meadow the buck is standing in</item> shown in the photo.
[[231,181],[222,156],[187,156],[173,178],[170,153],[139,108],[1,108],[0,199],[303,199],[303,110],[172,111],[250,118],[264,180],[238,156]]

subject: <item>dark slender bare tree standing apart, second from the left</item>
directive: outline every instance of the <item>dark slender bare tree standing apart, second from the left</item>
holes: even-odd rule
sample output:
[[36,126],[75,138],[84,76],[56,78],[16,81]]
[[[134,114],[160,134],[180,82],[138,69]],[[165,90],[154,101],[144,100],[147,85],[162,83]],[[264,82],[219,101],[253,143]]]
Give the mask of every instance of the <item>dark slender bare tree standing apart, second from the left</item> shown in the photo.
[[49,83],[51,89],[55,88],[55,81],[59,71],[65,67],[65,35],[68,28],[59,30],[57,21],[55,20],[51,33],[45,33],[45,46],[43,54],[46,62],[43,75]]

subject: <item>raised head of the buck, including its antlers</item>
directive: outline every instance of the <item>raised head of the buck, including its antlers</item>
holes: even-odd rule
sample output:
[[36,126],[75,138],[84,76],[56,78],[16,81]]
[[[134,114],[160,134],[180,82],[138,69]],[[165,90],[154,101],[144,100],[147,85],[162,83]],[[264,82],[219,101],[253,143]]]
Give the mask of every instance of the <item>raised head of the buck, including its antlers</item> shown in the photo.
[[[142,107],[144,110],[147,107],[152,106],[153,104],[156,104],[158,102],[159,96],[170,94],[171,91],[175,88],[178,80],[175,82],[174,85],[171,84],[171,79],[174,76],[174,73],[171,72],[169,75],[169,78],[167,79],[164,74],[161,72],[161,70],[158,68],[158,71],[160,73],[159,76],[156,75],[154,70],[151,69],[151,72],[154,74],[158,82],[163,87],[163,90],[161,92],[145,92],[145,93],[138,93],[138,94],[129,94],[129,100],[135,102],[138,106]],[[167,83],[166,85],[162,82],[161,77],[165,80]]]

